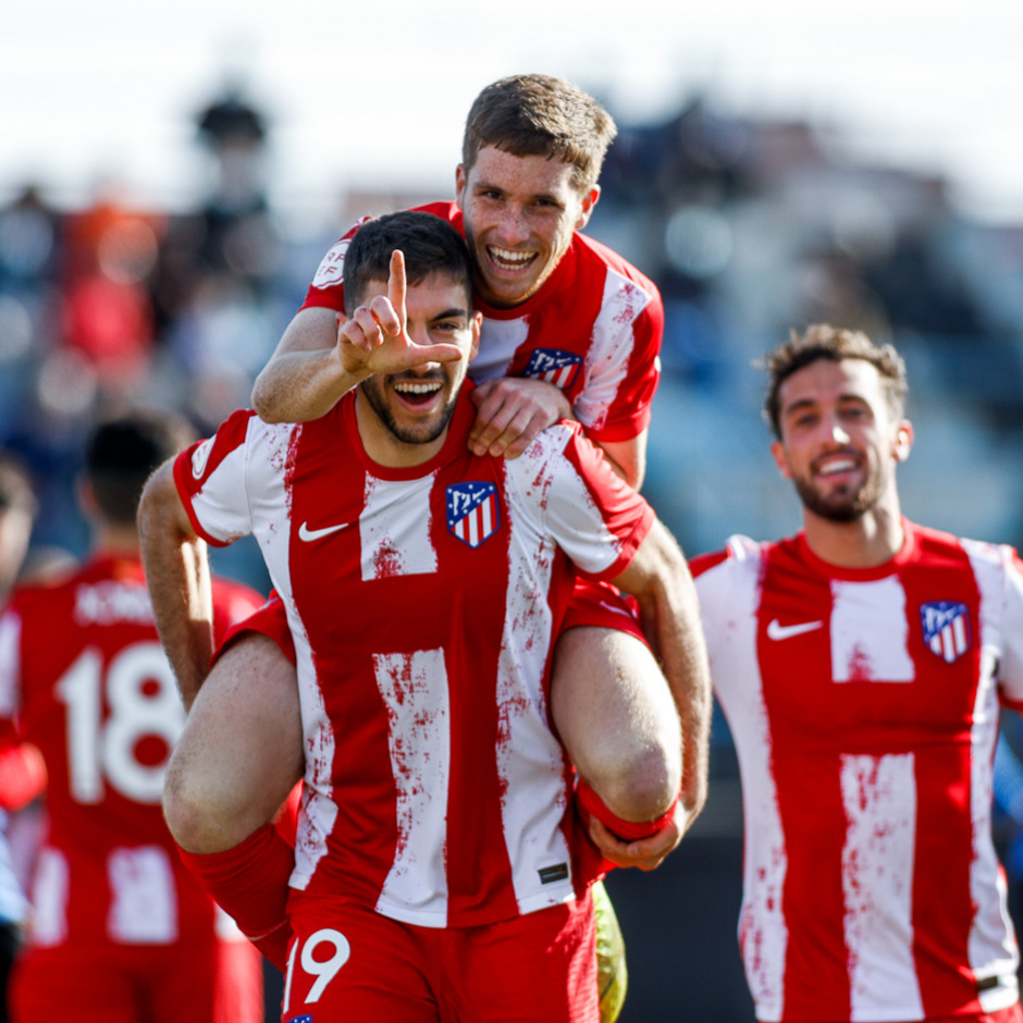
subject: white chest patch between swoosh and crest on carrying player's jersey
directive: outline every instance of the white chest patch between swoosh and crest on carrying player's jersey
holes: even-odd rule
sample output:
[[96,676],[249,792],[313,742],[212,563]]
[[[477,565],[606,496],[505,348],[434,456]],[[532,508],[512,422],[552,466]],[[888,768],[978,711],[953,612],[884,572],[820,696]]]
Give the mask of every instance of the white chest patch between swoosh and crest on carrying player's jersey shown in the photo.
[[367,472],[359,515],[363,581],[436,571],[428,510],[435,477],[431,472],[419,480],[381,480]]

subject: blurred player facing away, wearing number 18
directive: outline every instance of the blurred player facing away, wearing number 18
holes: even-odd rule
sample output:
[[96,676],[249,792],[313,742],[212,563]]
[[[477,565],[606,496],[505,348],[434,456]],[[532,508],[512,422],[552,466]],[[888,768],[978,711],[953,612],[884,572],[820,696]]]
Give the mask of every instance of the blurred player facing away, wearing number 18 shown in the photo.
[[[11,982],[19,1023],[262,1020],[261,961],[180,862],[160,806],[185,713],[135,512],[148,474],[190,439],[156,414],[99,426],[79,488],[87,564],[19,587],[0,618],[0,724],[41,751],[48,773],[32,923]],[[259,604],[236,583],[215,593],[221,630]]]

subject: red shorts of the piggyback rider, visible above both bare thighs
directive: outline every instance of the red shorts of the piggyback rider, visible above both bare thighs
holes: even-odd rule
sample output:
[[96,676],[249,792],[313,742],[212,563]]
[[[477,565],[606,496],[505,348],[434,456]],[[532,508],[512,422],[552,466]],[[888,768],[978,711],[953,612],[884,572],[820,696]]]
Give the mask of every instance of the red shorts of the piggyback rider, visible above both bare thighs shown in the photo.
[[[614,632],[625,632],[628,636],[634,636],[641,643],[649,645],[642,629],[640,629],[638,605],[634,599],[621,593],[607,582],[590,582],[587,579],[576,579],[576,588],[572,590],[568,609],[565,612],[565,618],[562,621],[562,632],[577,626],[590,626],[611,629]],[[267,603],[262,607],[252,612],[248,618],[236,621],[227,630],[223,642],[217,653],[213,654],[213,663],[215,664],[217,658],[245,632],[261,632],[263,636],[268,636],[281,648],[281,653],[292,664],[295,663],[295,643],[287,626],[284,603],[278,595],[276,590],[271,591]]]

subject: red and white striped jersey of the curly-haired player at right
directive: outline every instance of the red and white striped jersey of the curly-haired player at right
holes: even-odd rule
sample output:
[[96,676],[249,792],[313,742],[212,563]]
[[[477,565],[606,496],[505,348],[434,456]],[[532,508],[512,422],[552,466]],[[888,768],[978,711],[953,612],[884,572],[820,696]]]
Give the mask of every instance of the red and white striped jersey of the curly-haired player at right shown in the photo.
[[1023,704],[1023,565],[905,537],[871,569],[822,562],[802,534],[693,563],[742,775],[739,938],[762,1021],[1018,998],[990,808],[999,701]]

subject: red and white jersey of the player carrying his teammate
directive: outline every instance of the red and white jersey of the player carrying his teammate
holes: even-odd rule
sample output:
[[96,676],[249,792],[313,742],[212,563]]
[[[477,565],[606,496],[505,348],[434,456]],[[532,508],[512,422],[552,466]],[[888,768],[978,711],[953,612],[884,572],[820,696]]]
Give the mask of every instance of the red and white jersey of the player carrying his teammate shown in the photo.
[[552,637],[570,563],[614,578],[653,518],[578,423],[516,459],[471,455],[470,389],[415,468],[368,457],[355,392],[303,426],[236,412],[175,465],[199,534],[254,534],[287,611],[306,741],[292,886],[431,927],[595,876],[551,729]]

